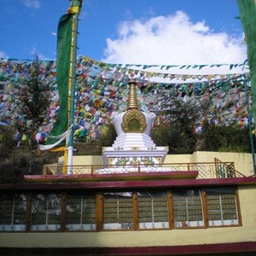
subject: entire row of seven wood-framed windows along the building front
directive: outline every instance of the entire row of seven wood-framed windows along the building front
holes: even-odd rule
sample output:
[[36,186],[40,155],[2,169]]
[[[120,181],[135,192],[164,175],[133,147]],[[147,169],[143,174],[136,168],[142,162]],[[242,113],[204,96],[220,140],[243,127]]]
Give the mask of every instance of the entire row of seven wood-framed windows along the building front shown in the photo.
[[236,187],[0,194],[0,232],[195,229],[241,224]]

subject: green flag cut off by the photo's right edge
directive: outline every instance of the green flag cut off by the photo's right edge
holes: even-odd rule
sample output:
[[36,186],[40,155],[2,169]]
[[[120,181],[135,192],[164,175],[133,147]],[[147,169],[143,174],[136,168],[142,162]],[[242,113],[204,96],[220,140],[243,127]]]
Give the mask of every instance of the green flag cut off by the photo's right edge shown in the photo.
[[256,1],[237,0],[247,43],[247,59],[253,91],[253,119],[256,122]]

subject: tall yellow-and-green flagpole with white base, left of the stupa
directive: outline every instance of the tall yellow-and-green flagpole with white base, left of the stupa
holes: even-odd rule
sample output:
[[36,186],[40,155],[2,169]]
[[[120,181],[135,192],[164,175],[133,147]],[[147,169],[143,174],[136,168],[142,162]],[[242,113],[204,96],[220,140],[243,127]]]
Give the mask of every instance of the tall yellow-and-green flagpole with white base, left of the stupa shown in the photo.
[[74,133],[74,112],[75,112],[75,87],[76,87],[76,67],[77,67],[77,41],[78,41],[78,20],[83,0],[73,0],[67,14],[73,15],[71,33],[71,55],[68,79],[68,120],[71,127],[70,137],[67,147],[67,174],[73,173],[73,133]]

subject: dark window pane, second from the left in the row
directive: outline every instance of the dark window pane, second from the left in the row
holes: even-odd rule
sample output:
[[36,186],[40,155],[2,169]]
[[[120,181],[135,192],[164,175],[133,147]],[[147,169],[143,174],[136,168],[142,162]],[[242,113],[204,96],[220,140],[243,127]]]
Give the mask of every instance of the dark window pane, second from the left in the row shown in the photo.
[[61,230],[61,195],[32,196],[31,230]]

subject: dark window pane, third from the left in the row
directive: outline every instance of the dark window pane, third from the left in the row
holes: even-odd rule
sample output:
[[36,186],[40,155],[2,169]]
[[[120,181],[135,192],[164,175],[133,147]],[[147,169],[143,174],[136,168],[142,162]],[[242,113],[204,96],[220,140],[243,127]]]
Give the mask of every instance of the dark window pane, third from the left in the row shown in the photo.
[[67,230],[96,230],[96,196],[67,195]]

